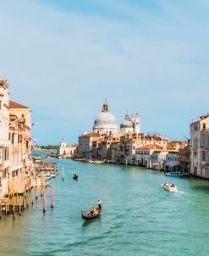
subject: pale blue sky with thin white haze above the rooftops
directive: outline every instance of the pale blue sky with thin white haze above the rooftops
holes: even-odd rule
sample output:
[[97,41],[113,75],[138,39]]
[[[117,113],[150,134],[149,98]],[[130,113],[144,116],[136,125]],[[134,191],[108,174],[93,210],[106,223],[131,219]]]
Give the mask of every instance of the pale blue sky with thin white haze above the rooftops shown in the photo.
[[207,0],[0,0],[0,78],[40,145],[78,142],[105,98],[118,125],[190,137],[209,112]]

